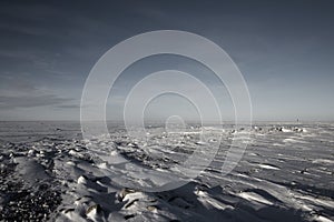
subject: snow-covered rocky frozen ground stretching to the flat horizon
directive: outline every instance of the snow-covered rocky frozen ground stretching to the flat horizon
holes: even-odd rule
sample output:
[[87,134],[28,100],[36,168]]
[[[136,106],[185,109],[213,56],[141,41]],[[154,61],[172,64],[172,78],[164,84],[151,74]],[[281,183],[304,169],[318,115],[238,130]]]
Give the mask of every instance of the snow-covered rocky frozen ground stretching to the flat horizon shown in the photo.
[[[215,161],[188,184],[165,192],[128,186],[158,184],[130,163],[173,171],[195,149],[198,128],[131,140],[110,124],[111,140],[81,139],[75,122],[0,123],[0,221],[333,221],[334,124],[258,123],[235,170],[220,173],[234,133],[213,128],[223,143]],[[109,153],[90,154],[90,145]],[[129,162],[124,162],[125,158]],[[106,176],[106,170],[112,176]],[[179,172],[183,178],[183,172]],[[164,179],[164,178],[163,178]],[[161,180],[163,180],[161,179]],[[131,184],[130,184],[131,183]],[[122,184],[120,186],[119,184]],[[128,185],[127,185],[128,184]]]

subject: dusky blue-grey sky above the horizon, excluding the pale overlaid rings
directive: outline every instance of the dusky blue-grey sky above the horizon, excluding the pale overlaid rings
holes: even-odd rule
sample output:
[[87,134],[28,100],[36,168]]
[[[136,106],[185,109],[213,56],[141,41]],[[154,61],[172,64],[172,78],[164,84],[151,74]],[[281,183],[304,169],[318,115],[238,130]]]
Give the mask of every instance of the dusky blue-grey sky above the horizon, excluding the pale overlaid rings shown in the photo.
[[[0,120],[79,120],[85,81],[105,52],[139,33],[183,30],[229,54],[247,83],[254,120],[333,121],[333,24],[331,0],[2,0]],[[234,118],[228,92],[210,70],[168,54],[124,71],[110,91],[107,118],[121,119],[136,82],[168,69],[198,78],[213,91],[223,119]],[[155,98],[145,110],[146,119],[171,115],[191,120],[198,112],[175,94]]]

